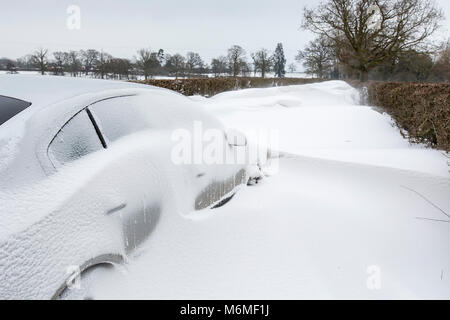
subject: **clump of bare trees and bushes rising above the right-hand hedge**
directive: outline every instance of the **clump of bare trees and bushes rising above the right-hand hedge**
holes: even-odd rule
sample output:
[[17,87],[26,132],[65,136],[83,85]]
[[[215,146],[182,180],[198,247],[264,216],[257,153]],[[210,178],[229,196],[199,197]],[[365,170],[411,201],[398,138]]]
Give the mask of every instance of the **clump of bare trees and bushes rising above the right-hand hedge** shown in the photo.
[[317,35],[296,60],[321,79],[450,81],[450,42],[432,35],[442,10],[432,0],[327,0],[305,8]]

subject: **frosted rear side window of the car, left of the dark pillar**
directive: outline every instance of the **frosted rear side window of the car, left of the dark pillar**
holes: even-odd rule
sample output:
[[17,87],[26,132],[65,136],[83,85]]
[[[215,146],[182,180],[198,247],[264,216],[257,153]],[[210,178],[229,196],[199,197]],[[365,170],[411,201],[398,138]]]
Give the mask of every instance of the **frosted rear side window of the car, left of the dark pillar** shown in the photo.
[[56,168],[103,149],[103,145],[86,112],[75,115],[55,136],[48,156]]

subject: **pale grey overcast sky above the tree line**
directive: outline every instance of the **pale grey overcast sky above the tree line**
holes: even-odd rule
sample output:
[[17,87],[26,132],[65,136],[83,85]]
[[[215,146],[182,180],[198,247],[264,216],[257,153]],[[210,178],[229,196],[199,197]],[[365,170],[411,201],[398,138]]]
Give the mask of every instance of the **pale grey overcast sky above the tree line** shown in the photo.
[[[199,52],[209,62],[239,44],[248,53],[285,47],[288,63],[313,36],[300,30],[307,0],[1,0],[0,57],[18,58],[37,47],[51,51],[103,49],[133,58],[142,47]],[[437,0],[450,30],[450,1]],[[81,9],[81,29],[67,27],[67,8]]]

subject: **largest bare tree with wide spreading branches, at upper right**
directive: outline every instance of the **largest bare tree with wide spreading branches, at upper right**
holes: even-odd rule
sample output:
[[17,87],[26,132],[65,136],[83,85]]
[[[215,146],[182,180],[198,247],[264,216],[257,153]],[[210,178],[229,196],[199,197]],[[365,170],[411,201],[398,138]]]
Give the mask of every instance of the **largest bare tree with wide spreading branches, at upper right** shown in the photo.
[[326,0],[305,8],[302,26],[333,41],[339,61],[365,81],[400,52],[429,50],[442,19],[433,0]]

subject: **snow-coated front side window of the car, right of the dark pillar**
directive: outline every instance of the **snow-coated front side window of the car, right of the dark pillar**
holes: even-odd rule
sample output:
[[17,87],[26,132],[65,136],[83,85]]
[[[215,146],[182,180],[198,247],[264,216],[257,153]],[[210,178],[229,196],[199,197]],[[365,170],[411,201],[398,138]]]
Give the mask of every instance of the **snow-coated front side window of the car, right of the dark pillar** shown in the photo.
[[89,110],[107,141],[113,142],[150,127],[146,115],[130,97],[100,101],[89,106]]

